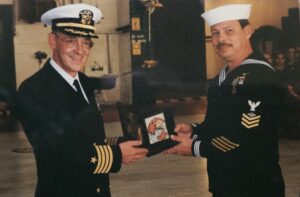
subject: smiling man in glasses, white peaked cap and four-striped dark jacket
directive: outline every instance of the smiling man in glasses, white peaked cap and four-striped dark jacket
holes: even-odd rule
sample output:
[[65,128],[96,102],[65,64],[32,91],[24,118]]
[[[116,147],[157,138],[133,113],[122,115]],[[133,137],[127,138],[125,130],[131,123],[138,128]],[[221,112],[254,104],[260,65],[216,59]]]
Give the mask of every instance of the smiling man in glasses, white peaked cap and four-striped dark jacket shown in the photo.
[[71,4],[42,15],[51,26],[52,58],[17,92],[17,112],[31,143],[36,197],[110,196],[109,173],[145,157],[140,141],[106,139],[94,83],[80,72],[93,46],[101,11]]

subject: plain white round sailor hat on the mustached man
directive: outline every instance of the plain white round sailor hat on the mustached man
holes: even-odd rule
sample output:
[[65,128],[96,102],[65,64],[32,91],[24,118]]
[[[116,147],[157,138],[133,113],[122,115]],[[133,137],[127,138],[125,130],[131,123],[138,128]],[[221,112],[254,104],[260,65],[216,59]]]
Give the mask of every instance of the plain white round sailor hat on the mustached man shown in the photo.
[[229,4],[204,12],[201,17],[209,26],[230,20],[249,19],[251,4]]

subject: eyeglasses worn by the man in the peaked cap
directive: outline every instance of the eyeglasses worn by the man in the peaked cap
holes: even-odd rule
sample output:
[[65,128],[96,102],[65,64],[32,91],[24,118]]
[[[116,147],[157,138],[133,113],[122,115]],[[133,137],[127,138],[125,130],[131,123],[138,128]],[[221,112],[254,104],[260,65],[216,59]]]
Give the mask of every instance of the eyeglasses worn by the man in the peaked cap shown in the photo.
[[68,48],[75,48],[78,44],[81,44],[84,49],[90,49],[93,47],[94,42],[86,38],[80,39],[76,37],[68,36],[66,38],[61,37],[58,33],[53,33],[61,41],[63,41]]

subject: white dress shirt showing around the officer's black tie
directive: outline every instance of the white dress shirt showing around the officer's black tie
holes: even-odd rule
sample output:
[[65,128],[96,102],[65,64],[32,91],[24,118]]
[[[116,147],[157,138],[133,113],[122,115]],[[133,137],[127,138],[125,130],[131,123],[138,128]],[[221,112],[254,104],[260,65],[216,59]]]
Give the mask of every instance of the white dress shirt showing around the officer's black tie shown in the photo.
[[71,75],[69,75],[64,69],[62,69],[53,59],[50,60],[50,65],[58,72],[58,74],[60,74],[60,76],[62,76],[62,78],[64,78],[67,83],[75,90],[77,91],[76,87],[73,85],[74,81],[77,79],[78,80],[78,83],[79,83],[79,86],[80,86],[80,89],[82,91],[82,94],[84,96],[84,99],[89,103],[89,100],[85,94],[85,91],[84,89],[82,88],[82,85],[80,83],[80,80],[79,80],[79,76],[78,76],[78,73],[76,73],[76,76],[75,77],[72,77]]

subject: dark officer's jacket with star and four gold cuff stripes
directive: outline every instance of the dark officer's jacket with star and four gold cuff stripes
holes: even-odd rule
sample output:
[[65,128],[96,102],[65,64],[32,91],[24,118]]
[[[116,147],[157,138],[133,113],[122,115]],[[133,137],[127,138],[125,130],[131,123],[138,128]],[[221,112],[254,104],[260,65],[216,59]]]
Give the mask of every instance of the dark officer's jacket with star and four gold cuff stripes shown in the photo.
[[89,104],[49,64],[25,80],[17,110],[33,146],[37,197],[109,197],[109,173],[121,167],[119,146],[107,145],[90,79],[79,73]]

